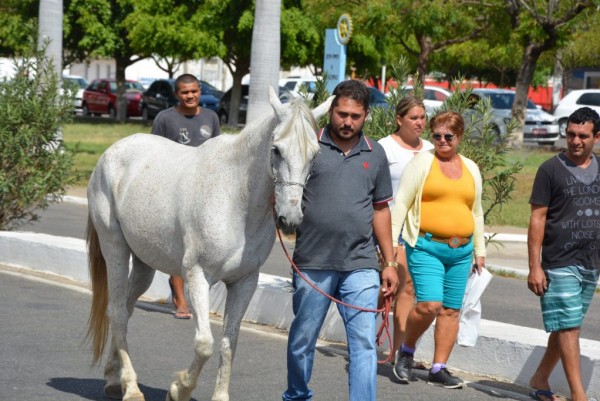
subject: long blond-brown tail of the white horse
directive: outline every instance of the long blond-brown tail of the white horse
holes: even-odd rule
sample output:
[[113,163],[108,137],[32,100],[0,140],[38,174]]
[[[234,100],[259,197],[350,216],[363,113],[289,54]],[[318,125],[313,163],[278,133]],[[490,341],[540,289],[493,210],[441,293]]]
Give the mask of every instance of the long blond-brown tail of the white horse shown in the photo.
[[106,314],[108,306],[108,279],[106,275],[106,261],[102,256],[98,233],[88,215],[87,248],[90,279],[92,281],[92,307],[88,318],[88,331],[86,339],[91,337],[94,351],[93,363],[102,358],[106,339],[108,337],[109,320]]

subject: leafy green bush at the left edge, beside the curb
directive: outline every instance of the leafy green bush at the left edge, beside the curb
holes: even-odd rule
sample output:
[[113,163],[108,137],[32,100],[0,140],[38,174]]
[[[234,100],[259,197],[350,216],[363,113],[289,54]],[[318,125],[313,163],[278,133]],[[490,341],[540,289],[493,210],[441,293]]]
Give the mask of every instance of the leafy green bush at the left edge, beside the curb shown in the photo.
[[0,229],[37,219],[35,211],[60,200],[73,184],[72,154],[61,127],[72,120],[74,93],[60,89],[44,51],[13,62],[0,81]]

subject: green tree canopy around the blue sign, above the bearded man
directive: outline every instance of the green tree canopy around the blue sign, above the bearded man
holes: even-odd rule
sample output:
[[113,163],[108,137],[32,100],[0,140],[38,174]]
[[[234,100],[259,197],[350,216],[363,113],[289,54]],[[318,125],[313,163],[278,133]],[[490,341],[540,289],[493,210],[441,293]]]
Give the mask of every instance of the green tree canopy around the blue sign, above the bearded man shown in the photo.
[[469,0],[357,0],[355,2],[307,0],[306,12],[322,27],[335,27],[342,12],[351,15],[353,36],[348,61],[360,75],[373,74],[399,56],[423,77],[434,54],[456,43],[482,35],[490,14]]

